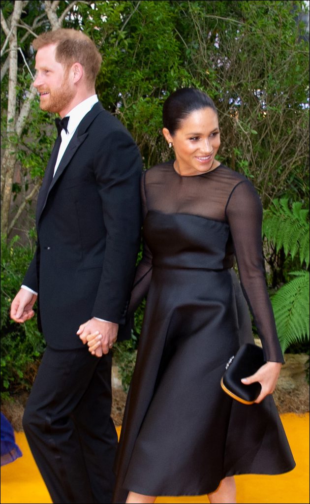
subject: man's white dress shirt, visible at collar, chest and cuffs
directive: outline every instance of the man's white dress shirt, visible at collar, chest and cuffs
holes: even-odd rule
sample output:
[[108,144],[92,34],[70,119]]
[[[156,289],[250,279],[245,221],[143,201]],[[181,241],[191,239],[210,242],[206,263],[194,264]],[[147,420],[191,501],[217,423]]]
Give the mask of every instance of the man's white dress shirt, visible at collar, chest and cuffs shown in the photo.
[[[67,115],[69,116],[69,121],[68,121],[68,125],[67,125],[68,133],[66,133],[66,131],[64,129],[61,130],[61,133],[60,133],[61,144],[59,147],[58,156],[57,156],[57,160],[55,163],[54,175],[56,173],[56,170],[60,164],[60,161],[63,158],[63,155],[65,154],[65,151],[66,151],[73,135],[76,132],[76,129],[78,128],[78,125],[80,124],[83,117],[92,109],[92,107],[95,105],[95,103],[97,103],[97,101],[98,101],[97,95],[96,94],[92,95],[89,98],[86,98],[86,100],[81,101],[81,103],[76,105],[72,110],[70,110],[70,112],[68,112],[66,114],[66,116]],[[32,292],[33,294],[37,294],[37,292],[30,289],[30,287],[27,287],[27,285],[22,285],[21,287],[22,287],[22,289],[26,289],[26,290]],[[98,320],[103,321],[103,319],[98,319]],[[108,322],[108,321],[104,321],[104,322]]]

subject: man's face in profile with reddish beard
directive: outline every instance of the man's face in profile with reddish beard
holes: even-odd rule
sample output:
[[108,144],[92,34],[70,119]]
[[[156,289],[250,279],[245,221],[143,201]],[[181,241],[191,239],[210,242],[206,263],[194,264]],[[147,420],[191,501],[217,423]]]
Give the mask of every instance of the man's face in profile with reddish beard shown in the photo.
[[70,110],[76,89],[71,81],[70,69],[56,61],[56,45],[49,44],[38,49],[35,69],[37,71],[34,87],[40,94],[40,108],[58,113],[60,117]]

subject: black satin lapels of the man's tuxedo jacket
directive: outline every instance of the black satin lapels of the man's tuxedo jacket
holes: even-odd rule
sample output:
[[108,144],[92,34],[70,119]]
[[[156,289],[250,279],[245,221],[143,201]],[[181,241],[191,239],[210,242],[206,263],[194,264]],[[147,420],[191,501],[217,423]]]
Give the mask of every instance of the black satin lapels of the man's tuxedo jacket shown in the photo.
[[53,170],[56,164],[57,160],[57,155],[59,151],[59,146],[61,143],[61,136],[59,135],[56,139],[56,142],[54,144],[50,159],[48,161],[46,170],[45,170],[45,175],[43,178],[41,190],[39,192],[38,196],[38,203],[37,203],[37,222],[39,221],[39,218],[44,210],[44,207],[46,205],[46,201],[48,198],[48,195],[51,191],[51,188],[55,185],[56,181],[60,177],[61,173],[64,172],[68,164],[70,163],[71,159],[73,158],[74,154],[76,151],[79,149],[79,147],[83,144],[84,140],[88,137],[88,132],[86,131],[90,124],[93,122],[95,117],[103,110],[103,107],[101,103],[95,103],[95,105],[92,107],[92,109],[83,117],[82,121],[78,125],[77,131],[72,137],[72,140],[70,144],[68,145],[63,157],[61,158],[61,161],[57,167],[56,173],[54,176],[53,175]]

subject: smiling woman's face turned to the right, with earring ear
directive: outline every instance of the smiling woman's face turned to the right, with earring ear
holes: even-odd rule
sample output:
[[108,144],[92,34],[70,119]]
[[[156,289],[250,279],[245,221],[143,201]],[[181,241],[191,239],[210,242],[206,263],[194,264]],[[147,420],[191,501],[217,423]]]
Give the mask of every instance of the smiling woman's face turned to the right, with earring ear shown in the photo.
[[220,130],[212,108],[191,112],[173,136],[167,128],[163,129],[163,134],[167,142],[173,144],[174,168],[180,175],[199,175],[219,166],[215,156],[221,143]]

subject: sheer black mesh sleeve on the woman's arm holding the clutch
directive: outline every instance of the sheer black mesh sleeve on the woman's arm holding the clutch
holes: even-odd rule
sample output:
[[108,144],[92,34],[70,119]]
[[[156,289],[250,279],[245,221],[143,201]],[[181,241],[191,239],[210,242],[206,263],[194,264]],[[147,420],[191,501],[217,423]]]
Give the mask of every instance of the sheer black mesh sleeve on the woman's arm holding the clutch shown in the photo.
[[271,302],[262,253],[262,204],[249,181],[239,182],[226,205],[243,294],[262,341],[268,361],[284,362]]

